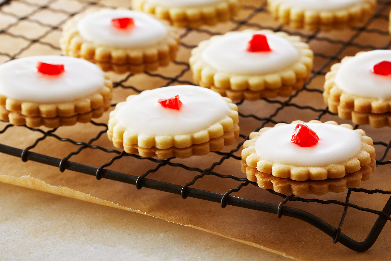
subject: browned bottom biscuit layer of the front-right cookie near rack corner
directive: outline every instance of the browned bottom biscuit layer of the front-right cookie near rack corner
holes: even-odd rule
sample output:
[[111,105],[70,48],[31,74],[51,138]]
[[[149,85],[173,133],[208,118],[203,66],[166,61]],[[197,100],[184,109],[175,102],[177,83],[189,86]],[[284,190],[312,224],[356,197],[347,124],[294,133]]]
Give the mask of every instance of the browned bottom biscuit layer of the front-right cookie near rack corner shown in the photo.
[[242,172],[246,173],[247,179],[252,182],[257,182],[258,187],[273,189],[275,192],[282,194],[292,193],[295,196],[306,196],[308,194],[320,196],[325,195],[327,192],[344,192],[346,188],[359,187],[361,181],[370,179],[372,172],[376,170],[376,160],[371,159],[371,163],[361,166],[359,171],[347,173],[343,178],[296,181],[290,178],[278,178],[271,174],[259,172],[256,168],[248,167],[245,160],[241,161],[241,165]]

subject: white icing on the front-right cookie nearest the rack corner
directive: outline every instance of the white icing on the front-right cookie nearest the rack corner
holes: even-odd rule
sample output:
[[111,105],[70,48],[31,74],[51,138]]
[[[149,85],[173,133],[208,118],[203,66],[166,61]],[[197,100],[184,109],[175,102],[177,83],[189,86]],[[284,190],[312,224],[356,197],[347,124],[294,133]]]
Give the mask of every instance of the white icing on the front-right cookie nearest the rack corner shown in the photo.
[[295,124],[266,130],[256,141],[261,159],[301,167],[325,167],[353,158],[362,147],[362,137],[354,130],[326,123],[305,123],[319,137],[312,147],[300,147],[291,141]]

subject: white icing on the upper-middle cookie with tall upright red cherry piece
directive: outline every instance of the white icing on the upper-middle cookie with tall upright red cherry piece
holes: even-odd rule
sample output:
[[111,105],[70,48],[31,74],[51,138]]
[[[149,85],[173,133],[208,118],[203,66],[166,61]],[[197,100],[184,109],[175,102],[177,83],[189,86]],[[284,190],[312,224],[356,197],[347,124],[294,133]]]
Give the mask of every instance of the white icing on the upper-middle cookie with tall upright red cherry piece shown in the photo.
[[265,34],[272,51],[249,52],[248,42],[253,34],[264,32],[241,32],[225,34],[210,42],[201,56],[213,68],[231,73],[266,74],[276,72],[297,62],[298,50],[289,40],[273,33]]

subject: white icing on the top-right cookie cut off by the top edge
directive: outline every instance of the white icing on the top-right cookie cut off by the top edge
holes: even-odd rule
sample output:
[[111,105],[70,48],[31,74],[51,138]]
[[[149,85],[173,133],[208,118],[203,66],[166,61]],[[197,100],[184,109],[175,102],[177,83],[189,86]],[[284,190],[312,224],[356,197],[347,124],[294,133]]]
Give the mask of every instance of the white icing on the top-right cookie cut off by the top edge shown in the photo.
[[315,11],[343,9],[362,2],[364,0],[276,0],[289,7]]

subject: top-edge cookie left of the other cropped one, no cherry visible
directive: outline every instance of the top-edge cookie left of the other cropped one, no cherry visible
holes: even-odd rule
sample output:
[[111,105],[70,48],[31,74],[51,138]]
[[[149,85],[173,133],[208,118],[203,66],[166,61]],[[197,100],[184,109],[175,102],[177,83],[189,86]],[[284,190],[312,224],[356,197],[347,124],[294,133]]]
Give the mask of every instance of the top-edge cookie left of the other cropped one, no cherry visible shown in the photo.
[[178,27],[226,22],[235,16],[240,0],[133,0],[133,9],[169,20]]

